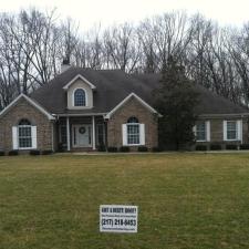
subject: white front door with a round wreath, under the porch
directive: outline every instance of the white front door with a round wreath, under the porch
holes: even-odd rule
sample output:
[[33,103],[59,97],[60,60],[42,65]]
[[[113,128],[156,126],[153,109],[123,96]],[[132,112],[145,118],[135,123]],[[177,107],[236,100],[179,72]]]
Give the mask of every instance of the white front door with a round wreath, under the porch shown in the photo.
[[92,146],[92,126],[91,125],[73,125],[73,147],[91,147]]

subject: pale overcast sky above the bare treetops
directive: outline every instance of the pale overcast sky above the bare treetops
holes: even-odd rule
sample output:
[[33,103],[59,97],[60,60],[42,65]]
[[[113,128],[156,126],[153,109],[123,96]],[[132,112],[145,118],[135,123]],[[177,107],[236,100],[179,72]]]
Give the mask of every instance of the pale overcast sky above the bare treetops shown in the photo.
[[1,12],[17,12],[37,7],[41,10],[56,8],[61,18],[71,17],[80,22],[81,30],[94,24],[103,27],[124,21],[139,21],[146,17],[172,10],[200,12],[221,25],[242,25],[249,21],[249,0],[1,0]]

